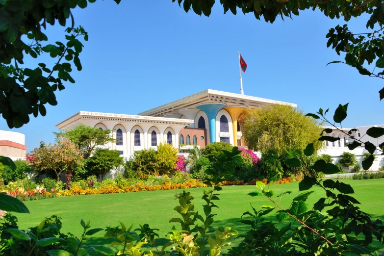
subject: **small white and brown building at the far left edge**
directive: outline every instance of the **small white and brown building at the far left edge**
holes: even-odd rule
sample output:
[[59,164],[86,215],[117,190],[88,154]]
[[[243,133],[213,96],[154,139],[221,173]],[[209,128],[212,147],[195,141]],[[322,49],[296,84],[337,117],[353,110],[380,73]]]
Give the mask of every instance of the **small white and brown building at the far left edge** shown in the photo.
[[0,155],[12,160],[26,157],[26,135],[20,132],[0,130]]

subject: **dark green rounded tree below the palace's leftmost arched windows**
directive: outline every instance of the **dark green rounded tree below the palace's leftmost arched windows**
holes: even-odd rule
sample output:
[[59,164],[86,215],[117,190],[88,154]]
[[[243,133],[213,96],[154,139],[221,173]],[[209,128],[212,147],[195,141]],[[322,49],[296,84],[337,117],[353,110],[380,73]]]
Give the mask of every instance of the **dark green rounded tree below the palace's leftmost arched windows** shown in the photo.
[[117,150],[109,150],[98,148],[95,153],[88,158],[87,168],[94,174],[100,175],[102,180],[113,167],[118,167],[123,164],[123,157]]

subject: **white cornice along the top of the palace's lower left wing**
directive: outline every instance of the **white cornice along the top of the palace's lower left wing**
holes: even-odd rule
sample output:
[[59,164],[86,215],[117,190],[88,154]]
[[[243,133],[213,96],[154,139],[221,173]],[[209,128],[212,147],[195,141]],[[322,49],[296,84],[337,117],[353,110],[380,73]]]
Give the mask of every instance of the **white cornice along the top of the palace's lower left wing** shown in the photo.
[[194,120],[188,120],[188,119],[80,111],[80,112],[77,112],[75,115],[65,119],[64,121],[58,123],[56,125],[56,128],[62,129],[66,126],[73,124],[79,119],[96,119],[101,122],[102,121],[119,121],[119,122],[168,124],[168,125],[180,125],[180,126],[189,126],[194,123]]

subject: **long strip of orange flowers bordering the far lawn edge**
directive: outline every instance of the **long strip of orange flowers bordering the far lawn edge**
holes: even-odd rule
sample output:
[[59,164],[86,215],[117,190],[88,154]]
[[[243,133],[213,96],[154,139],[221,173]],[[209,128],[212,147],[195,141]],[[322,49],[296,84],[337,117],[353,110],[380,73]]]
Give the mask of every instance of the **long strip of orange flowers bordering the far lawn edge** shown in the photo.
[[[284,184],[293,181],[292,178],[283,178],[281,180],[276,180],[274,184]],[[253,179],[249,182],[245,182],[244,180],[234,180],[234,181],[223,181],[220,183],[222,186],[242,186],[242,185],[255,185],[258,179]],[[260,180],[264,184],[268,183],[268,179]],[[157,190],[171,190],[171,189],[187,189],[187,188],[195,188],[195,187],[205,187],[206,185],[196,179],[189,179],[185,183],[179,184],[162,184],[155,186],[147,186],[141,183],[137,183],[136,185],[131,186],[112,186],[106,185],[99,188],[87,188],[81,189],[77,185],[73,185],[69,190],[59,190],[54,191],[52,189],[51,192],[47,192],[46,189],[36,189],[36,190],[24,190],[24,189],[16,189],[13,191],[5,191],[8,195],[11,195],[15,198],[18,198],[21,201],[30,201],[30,200],[41,200],[53,198],[56,196],[78,196],[78,195],[97,195],[97,194],[112,194],[112,193],[128,193],[128,192],[139,192],[139,191],[157,191]]]

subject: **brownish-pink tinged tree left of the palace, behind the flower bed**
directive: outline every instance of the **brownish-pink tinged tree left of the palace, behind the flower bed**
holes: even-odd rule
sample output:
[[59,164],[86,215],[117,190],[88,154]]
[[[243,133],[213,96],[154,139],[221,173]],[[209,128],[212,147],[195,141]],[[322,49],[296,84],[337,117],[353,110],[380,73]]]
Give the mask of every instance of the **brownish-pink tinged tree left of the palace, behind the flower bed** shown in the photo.
[[62,172],[73,172],[82,165],[82,154],[69,139],[61,137],[56,144],[48,146],[41,144],[29,153],[34,157],[33,168],[38,173],[54,172],[56,181],[60,180]]

